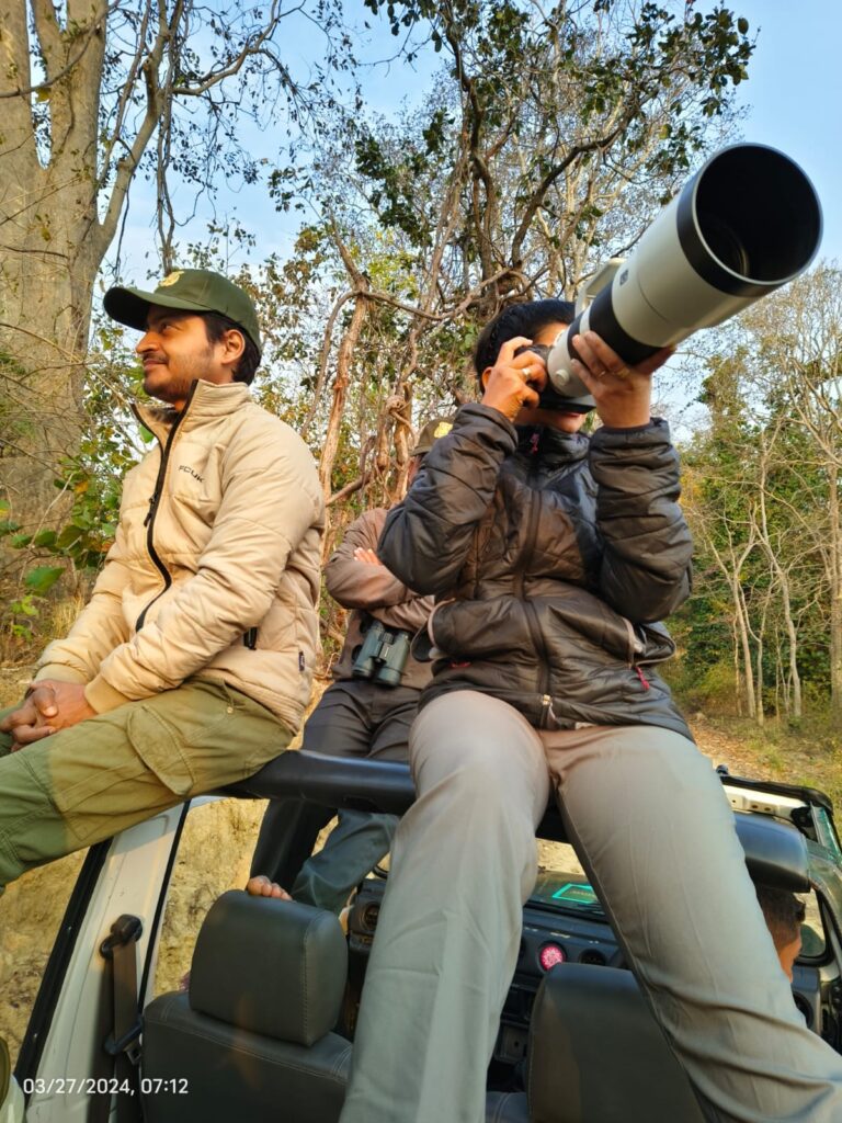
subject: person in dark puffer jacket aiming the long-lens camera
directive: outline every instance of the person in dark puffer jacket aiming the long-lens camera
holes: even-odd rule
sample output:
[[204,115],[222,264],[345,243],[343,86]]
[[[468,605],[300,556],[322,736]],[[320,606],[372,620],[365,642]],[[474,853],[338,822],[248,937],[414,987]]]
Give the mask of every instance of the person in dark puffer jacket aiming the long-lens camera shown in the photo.
[[574,338],[603,422],[588,438],[589,403],[542,393],[541,348],[573,318],[537,301],[485,327],[482,401],[381,538],[396,577],[436,596],[436,663],[341,1123],[485,1119],[550,796],[705,1117],[831,1123],[842,1060],[795,1008],[720,779],[656,670],[674,650],[659,620],[690,590],[678,458],[650,416],[670,351],[630,368]]

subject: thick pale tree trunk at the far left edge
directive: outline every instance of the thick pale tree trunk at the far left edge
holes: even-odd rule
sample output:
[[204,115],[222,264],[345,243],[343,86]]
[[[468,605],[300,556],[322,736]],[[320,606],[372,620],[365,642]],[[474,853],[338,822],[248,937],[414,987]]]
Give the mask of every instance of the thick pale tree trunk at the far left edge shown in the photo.
[[56,75],[40,100],[9,97],[33,81],[27,6],[0,13],[0,486],[25,526],[55,503],[58,466],[79,447],[91,291],[110,241],[97,213],[106,9],[71,0],[66,17],[65,31],[52,4],[33,6]]

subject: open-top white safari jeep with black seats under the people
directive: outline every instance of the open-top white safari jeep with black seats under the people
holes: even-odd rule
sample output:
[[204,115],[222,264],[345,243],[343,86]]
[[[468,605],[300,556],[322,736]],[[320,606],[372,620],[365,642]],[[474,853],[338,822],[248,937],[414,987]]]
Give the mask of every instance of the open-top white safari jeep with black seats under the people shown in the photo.
[[[754,880],[806,898],[793,998],[842,1050],[842,850],[831,802],[806,787],[722,782]],[[304,752],[225,794],[395,813],[413,798],[403,766]],[[223,893],[201,923],[189,979],[156,994],[180,840],[195,809],[217,798],[88,852],[13,1076],[0,1049],[0,1123],[338,1119],[386,874],[359,886],[347,932],[305,905]],[[487,1119],[701,1121],[557,812],[539,836],[548,841],[488,1068]]]

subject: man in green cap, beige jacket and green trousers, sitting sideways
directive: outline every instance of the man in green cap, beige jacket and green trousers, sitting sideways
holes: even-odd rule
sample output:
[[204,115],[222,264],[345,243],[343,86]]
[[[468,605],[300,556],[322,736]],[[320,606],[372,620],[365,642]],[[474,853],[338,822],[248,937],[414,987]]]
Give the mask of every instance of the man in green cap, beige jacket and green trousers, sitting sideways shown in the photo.
[[301,438],[258,407],[254,304],[205,270],[116,287],[144,335],[126,477],[89,603],[0,720],[0,892],[26,869],[242,779],[290,742],[318,645],[324,504]]

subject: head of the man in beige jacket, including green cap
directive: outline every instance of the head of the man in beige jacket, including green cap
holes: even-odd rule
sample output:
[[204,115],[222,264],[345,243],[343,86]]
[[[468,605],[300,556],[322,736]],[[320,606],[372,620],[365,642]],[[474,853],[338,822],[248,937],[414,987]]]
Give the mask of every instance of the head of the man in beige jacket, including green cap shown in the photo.
[[104,308],[144,335],[137,353],[148,394],[181,409],[198,378],[250,383],[260,362],[254,303],[210,270],[176,270],[154,292],[109,289]]

